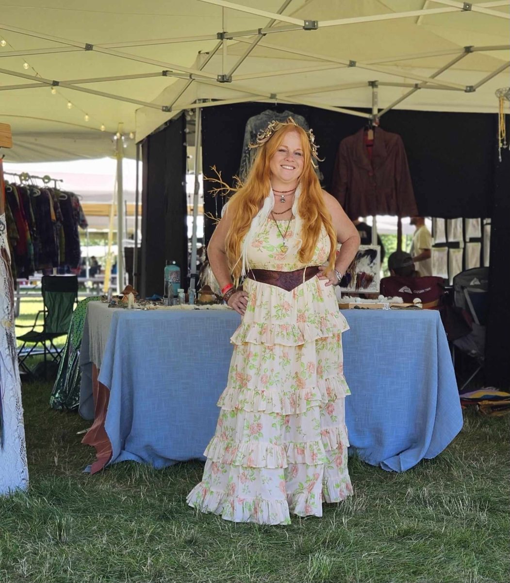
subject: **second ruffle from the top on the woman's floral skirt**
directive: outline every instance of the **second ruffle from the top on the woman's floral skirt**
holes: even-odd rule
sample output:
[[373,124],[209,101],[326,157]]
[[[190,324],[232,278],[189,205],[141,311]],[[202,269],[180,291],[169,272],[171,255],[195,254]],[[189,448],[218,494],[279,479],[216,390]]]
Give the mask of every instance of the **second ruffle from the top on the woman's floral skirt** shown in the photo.
[[332,401],[350,395],[350,390],[343,375],[317,380],[317,386],[282,392],[279,387],[261,390],[246,388],[239,391],[237,387],[226,387],[218,400],[218,406],[227,411],[264,411],[265,413],[282,413],[296,415],[306,410],[325,406]]

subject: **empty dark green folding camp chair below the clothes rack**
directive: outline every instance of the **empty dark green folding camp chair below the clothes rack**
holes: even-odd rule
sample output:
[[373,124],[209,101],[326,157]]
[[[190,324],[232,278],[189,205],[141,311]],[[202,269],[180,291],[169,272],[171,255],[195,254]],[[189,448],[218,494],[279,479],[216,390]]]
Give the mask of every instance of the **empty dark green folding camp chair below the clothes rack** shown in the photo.
[[[78,301],[78,278],[75,275],[45,275],[42,277],[42,303],[43,309],[38,311],[32,326],[19,326],[19,328],[30,328],[18,339],[23,341],[23,345],[18,350],[18,362],[22,370],[31,375],[31,370],[26,362],[30,356],[44,354],[44,372],[47,370],[47,357],[51,357],[49,362],[58,363],[62,349],[58,349],[55,338],[63,336],[69,332],[69,325]],[[42,331],[36,330],[38,318],[42,314]],[[31,346],[27,346],[31,345]],[[36,350],[36,347],[41,348]]]

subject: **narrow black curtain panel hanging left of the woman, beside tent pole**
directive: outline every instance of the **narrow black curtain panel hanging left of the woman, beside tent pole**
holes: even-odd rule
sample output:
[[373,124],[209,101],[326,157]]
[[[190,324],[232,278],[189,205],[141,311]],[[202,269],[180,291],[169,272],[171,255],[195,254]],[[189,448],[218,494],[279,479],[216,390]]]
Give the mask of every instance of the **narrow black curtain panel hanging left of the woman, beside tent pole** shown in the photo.
[[187,278],[186,119],[179,115],[141,146],[141,297],[162,296],[165,260],[180,267]]

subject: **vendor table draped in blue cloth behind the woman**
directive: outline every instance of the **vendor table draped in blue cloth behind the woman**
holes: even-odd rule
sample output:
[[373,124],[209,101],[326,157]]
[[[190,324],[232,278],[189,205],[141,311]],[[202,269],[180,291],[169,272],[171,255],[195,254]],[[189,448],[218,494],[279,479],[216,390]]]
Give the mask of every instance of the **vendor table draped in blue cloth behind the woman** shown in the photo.
[[[342,335],[352,392],[346,398],[349,452],[397,472],[438,455],[462,427],[438,312],[343,314],[350,325]],[[94,419],[84,438],[97,450],[93,472],[125,460],[161,468],[204,459],[232,355],[229,339],[239,322],[232,310],[88,304],[80,414]]]

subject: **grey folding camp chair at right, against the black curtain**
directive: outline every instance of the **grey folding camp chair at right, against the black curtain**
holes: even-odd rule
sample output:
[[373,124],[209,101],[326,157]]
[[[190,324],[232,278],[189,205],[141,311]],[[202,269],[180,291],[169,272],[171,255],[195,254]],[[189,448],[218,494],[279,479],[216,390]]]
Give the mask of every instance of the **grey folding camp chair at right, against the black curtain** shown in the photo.
[[483,369],[485,357],[485,334],[488,312],[488,267],[475,267],[458,273],[454,277],[454,304],[465,310],[473,319],[472,331],[454,340],[455,349],[472,357],[476,363],[474,372],[461,385],[459,392]]

